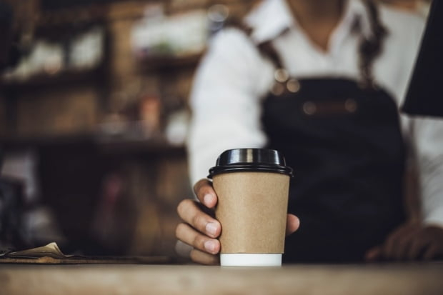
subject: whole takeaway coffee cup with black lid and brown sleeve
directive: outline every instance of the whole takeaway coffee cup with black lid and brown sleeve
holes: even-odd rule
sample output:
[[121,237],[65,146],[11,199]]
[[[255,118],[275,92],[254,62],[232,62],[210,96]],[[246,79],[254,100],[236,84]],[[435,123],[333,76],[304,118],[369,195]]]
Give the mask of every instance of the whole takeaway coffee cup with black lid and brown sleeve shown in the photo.
[[219,198],[221,266],[281,266],[292,169],[272,149],[224,151],[209,170]]

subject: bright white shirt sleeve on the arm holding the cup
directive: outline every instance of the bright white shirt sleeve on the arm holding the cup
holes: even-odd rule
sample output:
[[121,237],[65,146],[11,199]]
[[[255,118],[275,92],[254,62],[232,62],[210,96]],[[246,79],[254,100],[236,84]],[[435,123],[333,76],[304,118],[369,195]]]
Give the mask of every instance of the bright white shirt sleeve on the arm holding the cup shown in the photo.
[[[191,184],[208,175],[226,149],[262,147],[260,96],[269,81],[269,64],[237,29],[211,41],[191,91],[191,127],[187,141]],[[268,75],[269,76],[269,75]]]

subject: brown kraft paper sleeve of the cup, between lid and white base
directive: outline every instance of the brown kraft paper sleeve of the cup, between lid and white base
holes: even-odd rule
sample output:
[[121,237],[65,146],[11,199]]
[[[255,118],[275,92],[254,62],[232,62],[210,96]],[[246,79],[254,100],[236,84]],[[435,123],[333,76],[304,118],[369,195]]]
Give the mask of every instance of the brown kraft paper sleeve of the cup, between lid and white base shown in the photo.
[[290,176],[239,171],[213,177],[221,254],[282,254]]

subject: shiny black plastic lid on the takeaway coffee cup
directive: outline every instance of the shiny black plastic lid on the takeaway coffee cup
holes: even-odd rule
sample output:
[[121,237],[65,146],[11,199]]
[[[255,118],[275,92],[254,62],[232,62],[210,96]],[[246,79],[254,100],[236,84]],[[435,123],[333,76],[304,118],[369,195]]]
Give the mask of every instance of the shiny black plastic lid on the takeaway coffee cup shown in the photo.
[[208,178],[221,173],[254,171],[274,172],[292,175],[292,168],[286,166],[284,156],[274,149],[229,149],[209,169]]

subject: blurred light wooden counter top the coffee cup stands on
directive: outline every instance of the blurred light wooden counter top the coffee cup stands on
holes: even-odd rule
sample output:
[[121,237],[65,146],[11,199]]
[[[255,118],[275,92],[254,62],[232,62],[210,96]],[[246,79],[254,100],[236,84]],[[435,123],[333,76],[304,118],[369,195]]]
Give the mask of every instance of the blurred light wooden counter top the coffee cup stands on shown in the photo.
[[292,265],[0,264],[0,294],[442,295],[443,263]]

